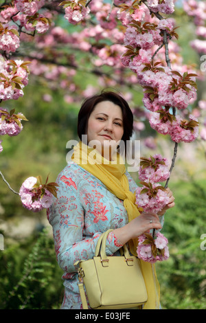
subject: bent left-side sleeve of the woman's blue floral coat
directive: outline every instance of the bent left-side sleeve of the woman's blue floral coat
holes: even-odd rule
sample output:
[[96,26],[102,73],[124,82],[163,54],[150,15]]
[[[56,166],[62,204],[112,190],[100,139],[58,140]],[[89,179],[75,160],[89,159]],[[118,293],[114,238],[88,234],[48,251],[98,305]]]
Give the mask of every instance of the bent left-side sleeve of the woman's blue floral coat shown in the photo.
[[[77,271],[73,265],[77,260],[93,258],[102,232],[97,227],[93,236],[84,236],[85,208],[79,194],[82,188],[78,188],[76,178],[60,175],[56,183],[57,198],[54,198],[53,205],[47,210],[47,219],[53,227],[58,264],[63,271],[73,273]],[[111,232],[106,241],[106,254],[112,255],[120,247],[122,245]]]

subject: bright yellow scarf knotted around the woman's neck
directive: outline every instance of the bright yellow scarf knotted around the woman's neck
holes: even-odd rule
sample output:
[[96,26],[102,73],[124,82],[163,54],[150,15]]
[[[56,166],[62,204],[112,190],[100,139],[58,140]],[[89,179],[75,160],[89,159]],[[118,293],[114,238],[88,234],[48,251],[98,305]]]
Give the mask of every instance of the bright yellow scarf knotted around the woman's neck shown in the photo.
[[[104,159],[98,151],[82,142],[73,147],[71,159],[92,175],[100,179],[102,183],[118,199],[124,201],[124,208],[128,213],[128,221],[135,219],[139,215],[137,205],[135,205],[135,194],[130,192],[128,178],[125,175],[126,168],[122,157],[117,154],[113,161]],[[138,240],[129,241],[129,247],[132,254],[137,256]],[[141,262],[141,269],[146,282],[148,292],[148,301],[144,309],[159,309],[159,282],[157,280],[155,265]]]

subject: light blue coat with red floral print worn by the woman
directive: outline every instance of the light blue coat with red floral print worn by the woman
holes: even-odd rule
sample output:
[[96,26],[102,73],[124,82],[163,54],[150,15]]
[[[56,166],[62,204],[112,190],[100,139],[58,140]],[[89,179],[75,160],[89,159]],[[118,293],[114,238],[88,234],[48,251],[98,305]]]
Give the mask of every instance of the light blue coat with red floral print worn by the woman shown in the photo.
[[[126,172],[130,191],[137,184]],[[123,201],[108,191],[100,179],[78,164],[70,161],[60,172],[57,199],[47,210],[47,219],[53,227],[56,258],[64,271],[62,279],[65,296],[61,309],[81,309],[78,291],[77,260],[95,255],[95,247],[102,232],[128,223]],[[108,235],[106,254],[118,254],[122,247],[113,232]]]

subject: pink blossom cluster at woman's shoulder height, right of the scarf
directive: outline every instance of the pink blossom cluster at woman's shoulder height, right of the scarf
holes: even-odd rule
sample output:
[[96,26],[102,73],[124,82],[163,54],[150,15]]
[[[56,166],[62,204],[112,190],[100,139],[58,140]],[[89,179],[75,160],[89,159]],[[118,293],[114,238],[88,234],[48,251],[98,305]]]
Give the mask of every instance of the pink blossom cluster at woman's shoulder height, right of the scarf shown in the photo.
[[157,183],[166,181],[170,177],[168,159],[160,154],[150,156],[148,159],[141,161],[139,167],[139,180]]

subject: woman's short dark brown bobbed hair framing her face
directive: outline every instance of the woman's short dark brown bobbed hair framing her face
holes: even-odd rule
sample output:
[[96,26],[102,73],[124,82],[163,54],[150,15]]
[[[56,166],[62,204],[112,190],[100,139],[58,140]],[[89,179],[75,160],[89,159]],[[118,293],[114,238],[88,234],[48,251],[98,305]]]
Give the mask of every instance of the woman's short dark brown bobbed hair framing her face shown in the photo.
[[87,134],[89,116],[95,106],[102,101],[111,101],[121,108],[124,127],[122,140],[126,147],[126,140],[130,140],[130,137],[133,135],[133,113],[126,100],[112,91],[102,91],[100,94],[85,99],[82,103],[82,107],[78,114],[78,136],[80,137],[80,140],[82,139],[82,135]]

